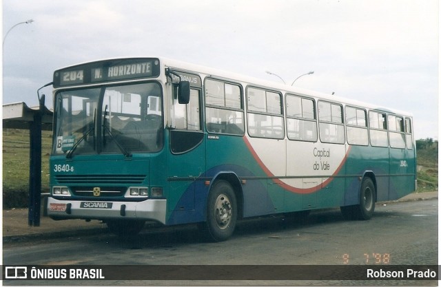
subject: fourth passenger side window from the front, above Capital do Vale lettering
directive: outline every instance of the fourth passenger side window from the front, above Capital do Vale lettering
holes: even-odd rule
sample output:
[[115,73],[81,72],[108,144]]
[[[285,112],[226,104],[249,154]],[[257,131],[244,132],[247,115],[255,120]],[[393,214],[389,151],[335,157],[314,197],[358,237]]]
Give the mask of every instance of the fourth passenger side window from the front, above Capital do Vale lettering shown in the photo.
[[345,143],[345,125],[343,125],[341,105],[319,100],[318,122],[322,142]]

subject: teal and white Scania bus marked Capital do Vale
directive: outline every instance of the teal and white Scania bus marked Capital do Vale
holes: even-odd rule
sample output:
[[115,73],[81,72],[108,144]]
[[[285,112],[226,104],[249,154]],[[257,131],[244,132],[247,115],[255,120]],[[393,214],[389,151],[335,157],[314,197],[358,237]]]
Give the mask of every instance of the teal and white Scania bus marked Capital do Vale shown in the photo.
[[197,224],[340,207],[369,220],[416,189],[411,114],[161,57],[54,72],[54,220]]

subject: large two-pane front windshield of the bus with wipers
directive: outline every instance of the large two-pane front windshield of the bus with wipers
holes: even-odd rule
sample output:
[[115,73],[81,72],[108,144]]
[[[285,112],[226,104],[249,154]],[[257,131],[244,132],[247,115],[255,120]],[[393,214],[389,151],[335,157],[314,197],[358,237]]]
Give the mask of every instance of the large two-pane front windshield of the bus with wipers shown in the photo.
[[158,83],[73,89],[55,96],[55,155],[155,152],[163,147]]

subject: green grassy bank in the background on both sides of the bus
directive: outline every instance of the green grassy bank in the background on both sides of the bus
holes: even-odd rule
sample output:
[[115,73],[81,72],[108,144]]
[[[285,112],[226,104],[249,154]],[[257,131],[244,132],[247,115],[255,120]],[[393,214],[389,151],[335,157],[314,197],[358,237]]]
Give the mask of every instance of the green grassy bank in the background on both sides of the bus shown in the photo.
[[[52,132],[43,131],[41,140],[41,189],[49,191],[49,155]],[[417,150],[418,190],[438,191],[438,142]],[[28,206],[29,131],[3,129],[3,208]]]

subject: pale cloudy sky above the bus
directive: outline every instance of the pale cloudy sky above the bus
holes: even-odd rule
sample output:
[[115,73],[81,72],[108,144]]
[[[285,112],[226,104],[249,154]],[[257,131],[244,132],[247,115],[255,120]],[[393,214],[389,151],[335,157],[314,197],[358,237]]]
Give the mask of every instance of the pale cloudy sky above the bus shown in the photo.
[[[438,0],[3,0],[3,103],[54,70],[165,56],[411,111],[438,138]],[[52,107],[50,87],[42,90]]]

